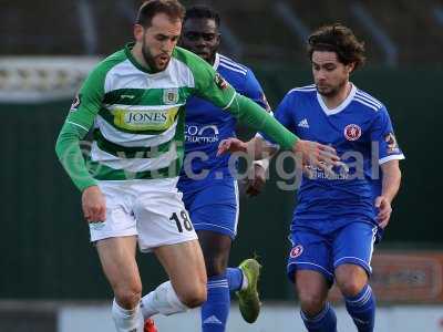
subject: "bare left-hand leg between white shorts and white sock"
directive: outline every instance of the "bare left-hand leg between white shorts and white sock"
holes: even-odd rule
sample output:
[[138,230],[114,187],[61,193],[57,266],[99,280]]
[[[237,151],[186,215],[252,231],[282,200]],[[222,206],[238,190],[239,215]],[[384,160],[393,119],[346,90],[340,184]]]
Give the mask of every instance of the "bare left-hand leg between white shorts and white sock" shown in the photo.
[[142,291],[135,260],[135,236],[107,238],[96,242],[103,271],[119,295],[133,295]]

